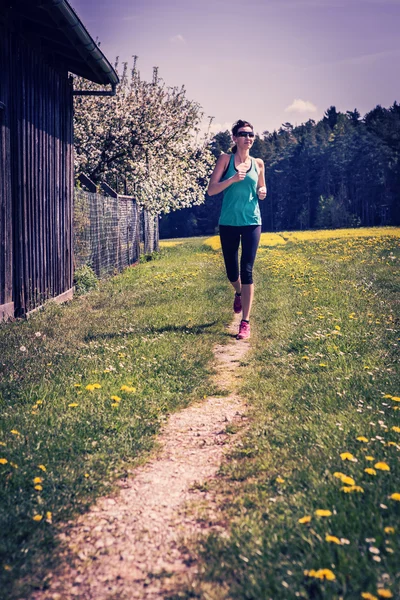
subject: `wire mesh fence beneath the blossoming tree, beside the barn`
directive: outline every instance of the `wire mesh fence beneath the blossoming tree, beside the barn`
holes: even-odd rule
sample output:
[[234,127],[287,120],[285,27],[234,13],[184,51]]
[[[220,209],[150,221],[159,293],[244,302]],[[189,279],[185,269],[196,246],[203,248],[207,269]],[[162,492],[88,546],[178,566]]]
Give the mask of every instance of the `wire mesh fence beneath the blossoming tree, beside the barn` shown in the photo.
[[90,265],[100,278],[158,250],[158,218],[130,196],[75,189],[74,268]]

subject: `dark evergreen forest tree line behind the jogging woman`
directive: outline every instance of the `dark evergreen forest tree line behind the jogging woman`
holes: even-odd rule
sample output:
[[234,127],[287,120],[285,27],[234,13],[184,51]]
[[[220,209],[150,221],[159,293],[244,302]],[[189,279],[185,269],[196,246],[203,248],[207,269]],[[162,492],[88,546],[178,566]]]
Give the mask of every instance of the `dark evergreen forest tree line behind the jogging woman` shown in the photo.
[[[210,149],[229,152],[229,131]],[[400,224],[400,105],[377,106],[361,118],[331,106],[319,121],[284,123],[256,135],[251,150],[265,163],[268,194],[260,202],[263,231]],[[163,238],[212,235],[222,197],[163,215]]]

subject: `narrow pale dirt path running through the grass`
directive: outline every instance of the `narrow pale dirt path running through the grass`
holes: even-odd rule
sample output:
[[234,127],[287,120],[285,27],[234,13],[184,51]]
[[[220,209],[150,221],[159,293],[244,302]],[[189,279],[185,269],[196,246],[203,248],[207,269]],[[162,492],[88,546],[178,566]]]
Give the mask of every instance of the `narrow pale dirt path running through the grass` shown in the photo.
[[160,452],[120,483],[120,493],[100,499],[62,534],[66,564],[50,589],[32,600],[162,599],[194,574],[185,539],[222,527],[204,521],[195,507],[212,505],[207,480],[216,476],[234,438],[226,427],[245,419],[235,380],[249,346],[234,339],[237,327],[235,318],[232,341],[215,348],[216,382],[229,395],[170,416]]

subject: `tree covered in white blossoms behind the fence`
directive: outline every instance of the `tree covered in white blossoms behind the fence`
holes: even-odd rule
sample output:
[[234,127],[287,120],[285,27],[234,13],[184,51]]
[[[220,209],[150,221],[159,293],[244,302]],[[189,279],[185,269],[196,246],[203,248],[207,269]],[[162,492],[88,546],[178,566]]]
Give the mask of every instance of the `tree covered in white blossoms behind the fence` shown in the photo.
[[[118,71],[118,61],[115,65]],[[203,113],[185,88],[167,87],[154,69],[142,81],[127,63],[113,97],[75,96],[75,161],[95,183],[135,197],[153,213],[201,204],[214,164],[206,137],[198,140]],[[75,88],[99,86],[79,77]]]

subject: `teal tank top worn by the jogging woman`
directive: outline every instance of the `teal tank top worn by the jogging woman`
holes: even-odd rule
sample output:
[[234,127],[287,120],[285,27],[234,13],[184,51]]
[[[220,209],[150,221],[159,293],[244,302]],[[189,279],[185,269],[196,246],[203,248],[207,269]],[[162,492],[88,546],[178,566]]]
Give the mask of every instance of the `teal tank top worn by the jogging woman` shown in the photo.
[[[236,173],[235,155],[232,154],[228,170],[222,181],[233,177]],[[243,227],[245,225],[261,225],[261,213],[257,196],[258,173],[256,161],[251,157],[251,167],[242,181],[232,183],[224,190],[219,225]]]

